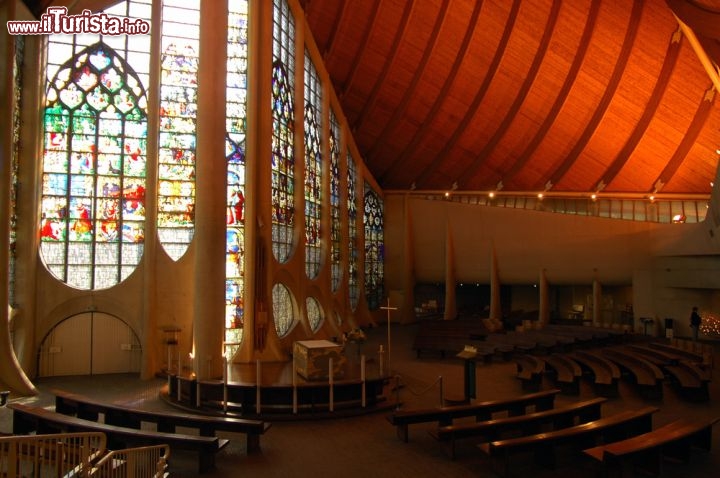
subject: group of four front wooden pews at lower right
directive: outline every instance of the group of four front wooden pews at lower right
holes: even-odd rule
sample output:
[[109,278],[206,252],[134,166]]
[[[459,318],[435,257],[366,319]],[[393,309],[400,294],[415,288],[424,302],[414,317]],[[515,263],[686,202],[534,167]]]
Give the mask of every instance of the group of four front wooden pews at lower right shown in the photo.
[[[657,407],[604,415],[607,398],[598,397],[554,407],[559,389],[546,390],[507,400],[429,409],[397,410],[388,421],[398,436],[408,441],[408,425],[437,423],[430,434],[456,457],[458,440],[480,439],[480,452],[487,455],[493,470],[507,476],[520,454],[530,454],[535,463],[554,467],[556,448],[572,447],[598,466],[598,475],[621,470],[626,463],[640,461],[658,471],[663,456],[690,458],[690,449],[711,449],[712,427],[718,418],[681,419],[654,428]],[[474,422],[461,420],[474,417]]]

